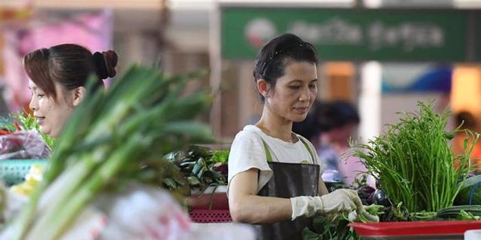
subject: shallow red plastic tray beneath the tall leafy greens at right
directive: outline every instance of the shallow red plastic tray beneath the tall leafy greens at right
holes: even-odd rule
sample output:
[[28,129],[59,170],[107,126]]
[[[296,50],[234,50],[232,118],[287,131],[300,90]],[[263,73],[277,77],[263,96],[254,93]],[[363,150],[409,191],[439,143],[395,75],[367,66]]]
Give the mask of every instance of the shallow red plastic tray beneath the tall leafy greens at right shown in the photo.
[[462,239],[481,221],[396,221],[350,224],[363,239]]

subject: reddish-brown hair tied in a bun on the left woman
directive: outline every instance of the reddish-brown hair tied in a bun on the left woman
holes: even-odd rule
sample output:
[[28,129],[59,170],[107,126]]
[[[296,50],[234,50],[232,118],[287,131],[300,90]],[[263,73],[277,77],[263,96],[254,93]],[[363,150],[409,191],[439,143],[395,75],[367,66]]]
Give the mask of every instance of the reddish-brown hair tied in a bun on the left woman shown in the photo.
[[23,57],[23,68],[45,95],[56,99],[54,82],[71,90],[85,86],[89,75],[95,73],[99,80],[98,88],[103,86],[102,80],[117,74],[117,61],[115,51],[92,54],[80,45],[63,44],[27,53]]

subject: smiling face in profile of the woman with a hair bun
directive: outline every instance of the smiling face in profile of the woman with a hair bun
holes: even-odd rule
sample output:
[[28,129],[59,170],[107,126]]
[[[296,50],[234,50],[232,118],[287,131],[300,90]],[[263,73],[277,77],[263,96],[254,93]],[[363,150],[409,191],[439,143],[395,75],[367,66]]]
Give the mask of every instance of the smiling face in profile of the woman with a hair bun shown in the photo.
[[32,80],[29,81],[29,88],[32,92],[30,109],[41,132],[57,137],[62,130],[63,124],[70,117],[74,110],[74,92],[67,91],[63,86],[55,82],[56,99],[48,97],[38,88]]

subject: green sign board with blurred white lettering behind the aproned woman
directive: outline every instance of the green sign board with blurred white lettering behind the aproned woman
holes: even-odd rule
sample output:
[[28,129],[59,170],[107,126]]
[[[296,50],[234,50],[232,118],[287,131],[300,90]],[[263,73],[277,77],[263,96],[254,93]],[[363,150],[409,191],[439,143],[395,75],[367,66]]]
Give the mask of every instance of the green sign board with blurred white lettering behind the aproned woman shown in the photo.
[[477,19],[463,10],[224,7],[222,56],[253,59],[267,40],[290,32],[315,45],[322,60],[474,61],[481,59],[473,40],[481,35],[470,34]]

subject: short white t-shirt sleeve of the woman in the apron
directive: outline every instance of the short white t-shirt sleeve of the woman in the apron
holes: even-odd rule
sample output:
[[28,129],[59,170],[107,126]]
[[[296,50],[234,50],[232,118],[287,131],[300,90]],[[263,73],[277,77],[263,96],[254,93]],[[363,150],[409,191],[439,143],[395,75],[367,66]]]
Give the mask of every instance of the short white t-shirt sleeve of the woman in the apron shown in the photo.
[[[241,131],[236,135],[230,148],[229,174],[227,189],[234,176],[249,169],[259,169],[257,192],[264,187],[272,177],[272,170],[267,164],[267,156],[260,136],[254,132]],[[228,192],[228,190],[227,190]]]

